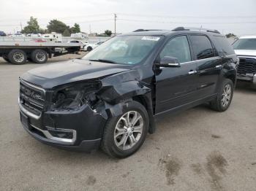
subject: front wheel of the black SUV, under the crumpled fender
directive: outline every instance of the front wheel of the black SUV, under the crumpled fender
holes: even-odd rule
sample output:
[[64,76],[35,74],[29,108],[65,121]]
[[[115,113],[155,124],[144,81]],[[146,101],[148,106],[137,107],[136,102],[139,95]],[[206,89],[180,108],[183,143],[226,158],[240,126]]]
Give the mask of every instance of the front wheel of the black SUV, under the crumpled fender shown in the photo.
[[[102,150],[111,157],[124,158],[134,154],[140,149],[148,133],[148,113],[142,104],[129,101],[123,112],[117,117],[110,118],[105,125]],[[137,117],[135,117],[136,112]],[[126,123],[124,119],[127,119],[127,116],[132,117],[132,120],[138,120],[133,125],[132,122],[124,125]]]

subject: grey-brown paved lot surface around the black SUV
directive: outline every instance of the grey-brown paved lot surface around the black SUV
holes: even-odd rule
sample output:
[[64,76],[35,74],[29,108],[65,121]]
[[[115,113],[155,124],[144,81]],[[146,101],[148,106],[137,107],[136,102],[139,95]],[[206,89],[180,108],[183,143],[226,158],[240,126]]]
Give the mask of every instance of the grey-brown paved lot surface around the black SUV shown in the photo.
[[139,152],[116,160],[49,147],[23,130],[18,77],[38,66],[0,58],[0,190],[256,190],[252,87],[238,84],[227,112],[198,106],[159,120]]

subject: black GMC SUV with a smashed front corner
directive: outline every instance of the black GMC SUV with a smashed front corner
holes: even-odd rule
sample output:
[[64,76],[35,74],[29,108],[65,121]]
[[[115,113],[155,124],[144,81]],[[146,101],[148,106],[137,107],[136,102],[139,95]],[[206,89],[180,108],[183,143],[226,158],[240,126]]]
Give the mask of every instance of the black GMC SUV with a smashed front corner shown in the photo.
[[109,39],[81,59],[20,77],[20,120],[34,138],[113,157],[136,152],[155,119],[210,103],[224,112],[238,59],[218,31],[138,30]]

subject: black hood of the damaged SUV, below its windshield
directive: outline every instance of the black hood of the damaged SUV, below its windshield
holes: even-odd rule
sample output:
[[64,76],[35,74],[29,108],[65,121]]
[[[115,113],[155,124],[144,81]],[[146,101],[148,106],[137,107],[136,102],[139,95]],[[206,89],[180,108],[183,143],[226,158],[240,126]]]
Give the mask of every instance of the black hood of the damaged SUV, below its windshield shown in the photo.
[[21,78],[45,89],[50,89],[70,82],[117,74],[130,68],[131,66],[116,63],[99,63],[77,59],[31,69],[23,74]]

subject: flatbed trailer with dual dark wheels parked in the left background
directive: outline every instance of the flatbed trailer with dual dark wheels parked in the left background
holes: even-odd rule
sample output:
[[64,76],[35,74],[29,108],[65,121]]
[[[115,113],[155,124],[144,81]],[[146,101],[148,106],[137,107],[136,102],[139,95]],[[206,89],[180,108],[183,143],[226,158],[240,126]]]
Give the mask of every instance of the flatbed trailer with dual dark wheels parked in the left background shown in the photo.
[[0,57],[12,64],[24,64],[26,61],[45,63],[48,58],[78,53],[79,43],[7,41],[0,39]]

